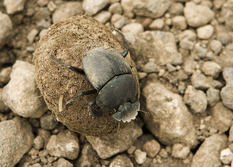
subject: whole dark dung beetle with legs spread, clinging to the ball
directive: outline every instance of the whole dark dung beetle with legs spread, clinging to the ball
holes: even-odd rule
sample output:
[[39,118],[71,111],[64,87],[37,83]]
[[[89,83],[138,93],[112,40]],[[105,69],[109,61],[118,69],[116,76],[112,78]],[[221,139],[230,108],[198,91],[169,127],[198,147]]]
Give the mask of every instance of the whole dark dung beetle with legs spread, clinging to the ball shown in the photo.
[[125,50],[119,53],[103,47],[92,49],[82,60],[83,69],[64,64],[53,56],[50,58],[76,73],[86,75],[95,88],[75,95],[67,101],[66,105],[80,96],[97,92],[96,99],[88,106],[92,115],[95,114],[91,106],[97,104],[100,108],[116,111],[113,114],[115,120],[130,122],[136,118],[140,110],[138,84],[125,60],[128,54],[128,44],[124,35],[118,30],[117,32],[123,40]]

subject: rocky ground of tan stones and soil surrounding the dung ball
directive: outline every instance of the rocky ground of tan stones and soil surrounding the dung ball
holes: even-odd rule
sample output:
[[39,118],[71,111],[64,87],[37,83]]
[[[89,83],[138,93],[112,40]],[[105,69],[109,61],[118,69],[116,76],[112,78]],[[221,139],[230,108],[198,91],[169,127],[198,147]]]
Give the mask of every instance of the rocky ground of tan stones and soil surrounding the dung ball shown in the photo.
[[[0,11],[0,166],[233,166],[233,0],[4,0]],[[68,130],[35,83],[36,43],[82,14],[123,32],[149,113],[110,136]]]

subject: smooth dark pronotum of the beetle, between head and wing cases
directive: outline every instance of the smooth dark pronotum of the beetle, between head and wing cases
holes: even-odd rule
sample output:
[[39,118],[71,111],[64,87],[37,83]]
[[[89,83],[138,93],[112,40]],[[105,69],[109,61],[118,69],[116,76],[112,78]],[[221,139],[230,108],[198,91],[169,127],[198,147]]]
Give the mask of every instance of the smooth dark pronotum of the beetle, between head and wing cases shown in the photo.
[[96,104],[101,108],[117,108],[137,97],[137,82],[133,75],[115,76],[98,93]]

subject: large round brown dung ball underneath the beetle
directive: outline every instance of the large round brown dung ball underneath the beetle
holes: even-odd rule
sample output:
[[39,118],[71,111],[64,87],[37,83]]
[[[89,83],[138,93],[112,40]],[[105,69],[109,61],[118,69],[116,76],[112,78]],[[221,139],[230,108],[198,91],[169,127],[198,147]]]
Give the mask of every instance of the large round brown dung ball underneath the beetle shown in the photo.
[[[52,61],[50,56],[83,69],[83,57],[97,47],[119,53],[125,50],[121,38],[106,26],[88,16],[75,16],[52,25],[38,42],[34,53],[36,82],[48,108],[70,130],[92,136],[116,132],[118,121],[112,117],[114,111],[94,106],[93,110],[98,117],[93,117],[88,105],[96,98],[96,94],[80,96],[66,105],[73,96],[92,90],[93,87],[85,75],[63,67]],[[137,79],[130,55],[125,59],[132,66],[133,75]]]

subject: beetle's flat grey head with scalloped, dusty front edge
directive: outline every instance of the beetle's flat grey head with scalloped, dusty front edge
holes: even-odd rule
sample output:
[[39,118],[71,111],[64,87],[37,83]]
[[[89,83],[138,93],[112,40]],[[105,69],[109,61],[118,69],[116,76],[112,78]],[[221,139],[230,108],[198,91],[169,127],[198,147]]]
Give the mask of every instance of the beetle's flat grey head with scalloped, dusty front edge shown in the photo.
[[130,122],[135,119],[140,110],[140,103],[137,101],[135,103],[125,102],[120,105],[118,111],[113,114],[113,118],[117,121]]

